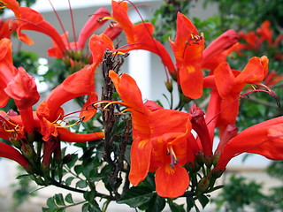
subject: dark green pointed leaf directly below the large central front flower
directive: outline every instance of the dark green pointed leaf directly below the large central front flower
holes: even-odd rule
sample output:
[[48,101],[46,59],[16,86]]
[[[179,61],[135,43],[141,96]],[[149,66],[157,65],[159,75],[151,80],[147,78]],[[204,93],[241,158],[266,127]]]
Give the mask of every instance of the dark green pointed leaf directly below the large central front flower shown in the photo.
[[142,206],[142,204],[149,202],[154,193],[148,187],[134,186],[131,187],[117,203],[127,204],[132,208]]

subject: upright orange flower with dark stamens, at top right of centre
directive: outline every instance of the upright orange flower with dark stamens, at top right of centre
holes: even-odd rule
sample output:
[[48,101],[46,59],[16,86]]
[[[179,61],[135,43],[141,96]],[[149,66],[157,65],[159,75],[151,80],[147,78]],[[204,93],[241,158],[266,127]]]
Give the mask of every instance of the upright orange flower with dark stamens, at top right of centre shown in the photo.
[[197,99],[203,95],[204,40],[195,25],[186,16],[178,12],[175,42],[171,41],[176,57],[177,78],[183,94]]

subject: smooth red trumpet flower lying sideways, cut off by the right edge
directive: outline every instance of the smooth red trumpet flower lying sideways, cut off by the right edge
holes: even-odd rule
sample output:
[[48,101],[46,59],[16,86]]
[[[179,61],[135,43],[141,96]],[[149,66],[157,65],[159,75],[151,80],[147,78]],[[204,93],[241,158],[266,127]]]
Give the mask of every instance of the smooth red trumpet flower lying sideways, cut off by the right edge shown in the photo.
[[272,160],[283,160],[283,117],[272,118],[253,125],[218,148],[217,169],[225,170],[226,164],[236,155],[254,153]]

